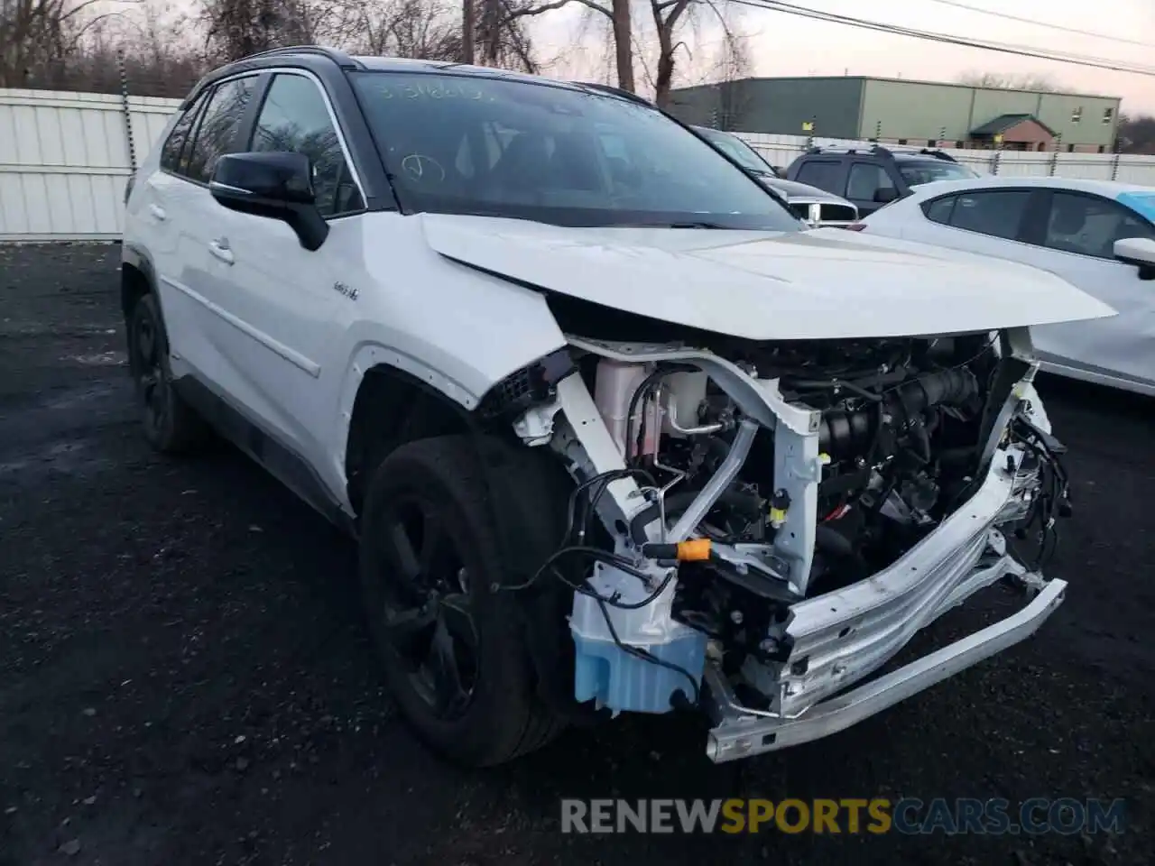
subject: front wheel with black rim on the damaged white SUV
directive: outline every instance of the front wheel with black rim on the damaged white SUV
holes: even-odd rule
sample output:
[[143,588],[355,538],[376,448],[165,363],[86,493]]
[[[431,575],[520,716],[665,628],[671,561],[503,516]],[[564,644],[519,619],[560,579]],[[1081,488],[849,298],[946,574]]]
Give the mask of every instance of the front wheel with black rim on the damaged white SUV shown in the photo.
[[370,480],[360,580],[402,716],[439,754],[492,766],[562,723],[535,692],[515,592],[505,583],[484,470],[469,436],[409,442]]

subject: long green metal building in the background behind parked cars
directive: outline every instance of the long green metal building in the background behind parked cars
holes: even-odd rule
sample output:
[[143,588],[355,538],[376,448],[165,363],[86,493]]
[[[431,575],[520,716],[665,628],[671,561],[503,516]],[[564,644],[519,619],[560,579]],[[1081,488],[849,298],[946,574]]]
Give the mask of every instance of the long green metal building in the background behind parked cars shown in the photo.
[[1109,151],[1119,98],[848,75],[680,88],[669,110],[684,122],[744,133],[1012,147],[1018,127],[1018,149]]

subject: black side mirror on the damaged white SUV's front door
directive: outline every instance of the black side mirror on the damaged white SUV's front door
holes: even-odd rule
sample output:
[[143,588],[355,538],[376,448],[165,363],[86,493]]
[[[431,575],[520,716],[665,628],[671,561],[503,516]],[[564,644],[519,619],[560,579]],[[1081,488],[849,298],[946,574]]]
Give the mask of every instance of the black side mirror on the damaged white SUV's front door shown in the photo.
[[313,169],[304,154],[226,154],[213,171],[209,193],[230,210],[288,223],[310,252],[329,237],[329,224],[313,194]]

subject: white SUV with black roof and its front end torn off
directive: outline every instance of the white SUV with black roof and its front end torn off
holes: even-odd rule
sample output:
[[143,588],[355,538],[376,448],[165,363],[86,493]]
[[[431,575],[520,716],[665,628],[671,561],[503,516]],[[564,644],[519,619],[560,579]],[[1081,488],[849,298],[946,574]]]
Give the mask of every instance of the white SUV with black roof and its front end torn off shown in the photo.
[[[1060,603],[1028,329],[1113,311],[800,229],[608,88],[247,58],[127,194],[144,431],[215,428],[349,529],[385,675],[454,760],[623,711],[708,714],[714,761],[813,740]],[[872,677],[994,583],[1018,612]]]

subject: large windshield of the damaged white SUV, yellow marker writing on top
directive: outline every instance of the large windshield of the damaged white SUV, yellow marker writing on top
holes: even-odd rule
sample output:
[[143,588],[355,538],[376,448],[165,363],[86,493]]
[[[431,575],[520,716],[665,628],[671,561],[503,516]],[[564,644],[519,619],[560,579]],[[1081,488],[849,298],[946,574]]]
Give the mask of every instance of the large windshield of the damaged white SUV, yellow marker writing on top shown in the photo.
[[799,230],[755,180],[649,106],[476,75],[352,77],[407,210]]

